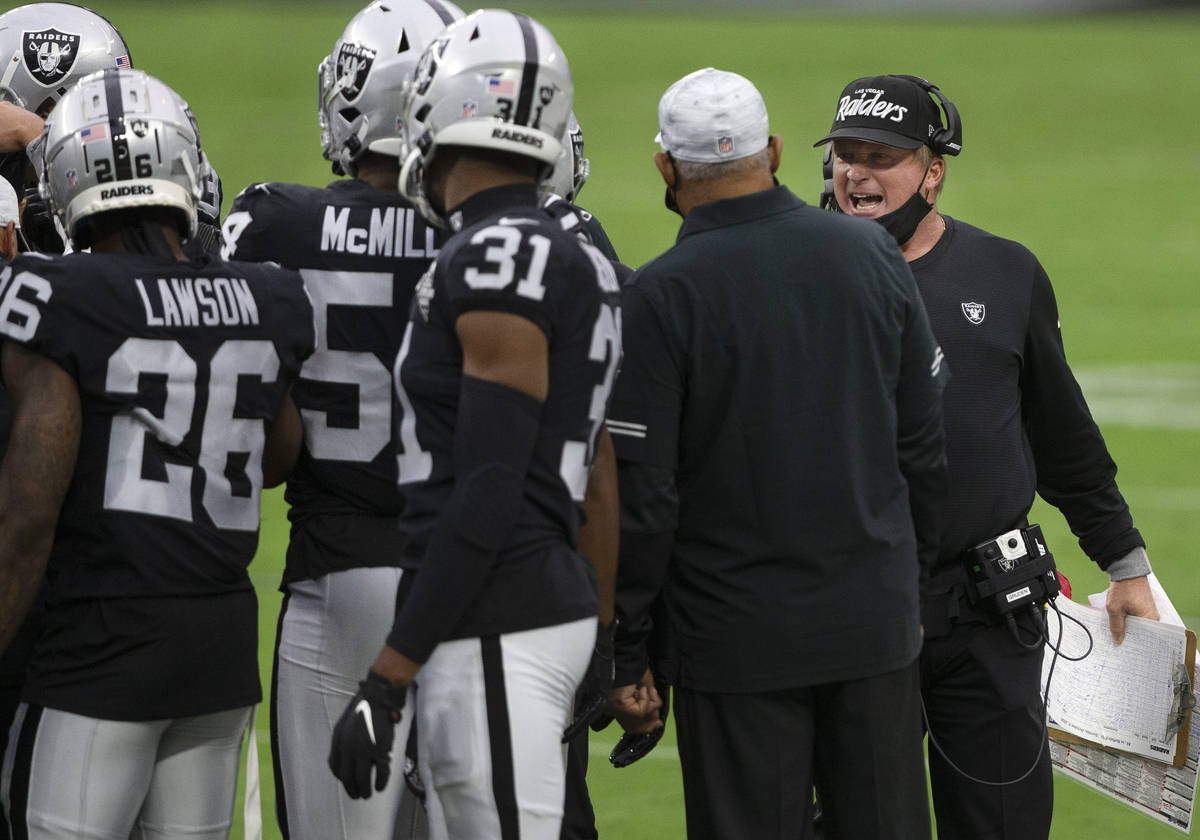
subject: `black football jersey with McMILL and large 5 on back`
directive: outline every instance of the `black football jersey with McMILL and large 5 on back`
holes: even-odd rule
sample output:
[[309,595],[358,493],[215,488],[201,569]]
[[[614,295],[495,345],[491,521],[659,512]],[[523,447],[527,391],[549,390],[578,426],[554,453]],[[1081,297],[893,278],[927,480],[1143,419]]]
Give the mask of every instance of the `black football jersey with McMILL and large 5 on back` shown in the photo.
[[284,582],[397,562],[391,368],[439,245],[400,194],[359,180],[253,185],[226,217],[224,256],[299,270],[317,314],[317,352],[292,395],[305,445],[286,493]]

